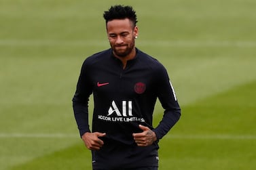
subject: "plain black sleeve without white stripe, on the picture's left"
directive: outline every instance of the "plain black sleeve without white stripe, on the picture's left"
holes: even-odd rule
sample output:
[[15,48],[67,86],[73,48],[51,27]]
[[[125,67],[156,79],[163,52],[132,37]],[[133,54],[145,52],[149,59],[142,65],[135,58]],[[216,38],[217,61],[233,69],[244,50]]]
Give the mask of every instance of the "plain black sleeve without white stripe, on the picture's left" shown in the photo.
[[73,112],[75,121],[79,129],[80,136],[86,132],[90,132],[88,121],[88,102],[92,94],[92,85],[90,83],[88,64],[86,61],[81,67],[79,79],[77,81],[77,89],[73,96]]

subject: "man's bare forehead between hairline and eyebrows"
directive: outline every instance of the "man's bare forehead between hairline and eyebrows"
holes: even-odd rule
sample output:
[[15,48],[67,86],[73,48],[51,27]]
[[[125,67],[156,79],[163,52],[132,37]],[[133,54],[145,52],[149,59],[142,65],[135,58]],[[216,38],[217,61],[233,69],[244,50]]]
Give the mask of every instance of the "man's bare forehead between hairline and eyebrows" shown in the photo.
[[107,22],[108,33],[122,33],[124,31],[131,31],[132,28],[132,22],[128,18],[115,19]]

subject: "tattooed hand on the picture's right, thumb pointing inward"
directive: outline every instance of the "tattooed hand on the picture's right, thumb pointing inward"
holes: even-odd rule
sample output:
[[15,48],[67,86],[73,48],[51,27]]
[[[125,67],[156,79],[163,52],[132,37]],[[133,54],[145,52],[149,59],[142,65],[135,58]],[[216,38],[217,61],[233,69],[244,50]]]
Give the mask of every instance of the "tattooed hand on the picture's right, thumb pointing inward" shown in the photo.
[[143,130],[143,132],[132,134],[134,141],[138,146],[149,146],[157,140],[156,133],[151,131],[149,127],[139,125],[139,128]]

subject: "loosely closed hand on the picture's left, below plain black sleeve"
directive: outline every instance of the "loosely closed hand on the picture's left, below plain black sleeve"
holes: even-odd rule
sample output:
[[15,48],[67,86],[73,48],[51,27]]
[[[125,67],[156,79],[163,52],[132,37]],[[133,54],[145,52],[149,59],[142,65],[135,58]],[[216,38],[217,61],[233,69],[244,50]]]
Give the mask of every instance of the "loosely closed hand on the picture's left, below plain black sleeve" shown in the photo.
[[86,132],[84,133],[84,135],[81,136],[81,139],[84,141],[86,148],[88,148],[89,150],[100,150],[104,142],[100,140],[98,137],[104,137],[105,135],[106,133]]

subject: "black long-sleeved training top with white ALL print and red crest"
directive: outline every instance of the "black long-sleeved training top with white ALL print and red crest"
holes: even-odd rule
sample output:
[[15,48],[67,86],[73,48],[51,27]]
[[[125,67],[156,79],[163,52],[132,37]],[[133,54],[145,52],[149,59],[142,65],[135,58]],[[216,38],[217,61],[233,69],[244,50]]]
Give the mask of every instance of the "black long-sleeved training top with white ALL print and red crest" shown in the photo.
[[[106,133],[104,145],[92,151],[94,169],[158,166],[158,143],[136,146],[132,133],[139,125],[152,129],[160,140],[179,120],[181,109],[166,69],[158,60],[136,49],[136,57],[122,62],[112,49],[94,54],[84,61],[73,97],[73,110],[80,135],[90,132],[89,96],[94,96],[92,132]],[[153,109],[159,98],[164,116],[152,126]]]

